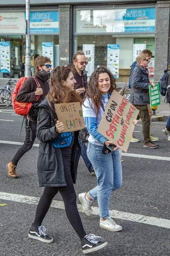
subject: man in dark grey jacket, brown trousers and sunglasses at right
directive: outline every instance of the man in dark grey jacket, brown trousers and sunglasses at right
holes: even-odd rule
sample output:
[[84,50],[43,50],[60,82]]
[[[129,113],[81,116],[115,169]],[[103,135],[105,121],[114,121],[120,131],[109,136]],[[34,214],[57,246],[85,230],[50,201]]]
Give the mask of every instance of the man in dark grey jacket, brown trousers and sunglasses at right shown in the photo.
[[153,143],[150,139],[150,116],[147,105],[150,104],[149,86],[152,85],[154,87],[155,85],[149,81],[148,63],[147,55],[140,54],[137,57],[137,64],[130,79],[131,91],[129,101],[139,110],[139,118],[142,120],[144,148],[158,148],[159,145]]

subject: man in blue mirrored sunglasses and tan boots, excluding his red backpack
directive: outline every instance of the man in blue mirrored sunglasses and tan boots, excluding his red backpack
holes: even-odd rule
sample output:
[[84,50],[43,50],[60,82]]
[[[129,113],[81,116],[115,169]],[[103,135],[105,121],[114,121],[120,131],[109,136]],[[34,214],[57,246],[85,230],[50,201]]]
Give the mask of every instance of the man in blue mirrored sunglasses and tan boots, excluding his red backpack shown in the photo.
[[[17,178],[16,167],[20,158],[32,148],[34,140],[36,138],[37,119],[36,119],[36,107],[37,104],[45,99],[45,96],[49,92],[48,79],[51,70],[51,61],[47,57],[38,56],[35,59],[34,77],[28,78],[20,91],[17,94],[17,102],[31,102],[32,106],[29,113],[26,115],[26,139],[24,144],[18,149],[10,163],[6,164],[8,176],[10,178]],[[40,87],[37,87],[37,82]],[[39,99],[36,100],[37,96]],[[36,103],[35,103],[36,102]]]

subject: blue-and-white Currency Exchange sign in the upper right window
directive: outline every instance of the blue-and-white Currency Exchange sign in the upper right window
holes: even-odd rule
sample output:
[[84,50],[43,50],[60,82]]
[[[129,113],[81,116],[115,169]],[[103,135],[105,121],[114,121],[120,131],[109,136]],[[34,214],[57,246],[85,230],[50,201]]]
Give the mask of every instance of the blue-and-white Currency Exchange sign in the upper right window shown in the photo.
[[114,32],[154,32],[155,8],[115,10]]

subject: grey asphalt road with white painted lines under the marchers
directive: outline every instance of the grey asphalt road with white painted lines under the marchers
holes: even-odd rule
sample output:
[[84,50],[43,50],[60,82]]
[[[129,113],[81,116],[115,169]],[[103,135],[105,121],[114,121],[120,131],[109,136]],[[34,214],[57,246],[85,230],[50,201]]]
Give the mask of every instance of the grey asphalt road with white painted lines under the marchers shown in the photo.
[[[79,238],[66,218],[59,194],[43,221],[54,242],[45,244],[28,238],[37,207],[35,198],[40,198],[43,188],[38,186],[37,146],[18,163],[18,179],[7,175],[6,163],[20,147],[14,143],[18,141],[21,122],[22,117],[14,115],[12,109],[0,111],[0,204],[7,204],[0,206],[0,256],[82,256]],[[152,125],[153,135],[160,138],[159,148],[143,148],[142,126],[136,126],[135,136],[140,142],[130,143],[127,153],[131,155],[122,157],[125,160],[122,163],[123,185],[111,194],[111,215],[123,230],[113,233],[99,227],[96,202],[93,204],[95,215],[91,218],[79,206],[87,233],[108,241],[108,246],[91,255],[170,256],[170,142],[161,131],[165,121]],[[24,136],[23,128],[20,142],[24,141]],[[167,158],[158,160],[157,157]],[[95,185],[96,177],[89,175],[80,159],[75,185],[77,195]],[[78,199],[77,204],[80,204]]]

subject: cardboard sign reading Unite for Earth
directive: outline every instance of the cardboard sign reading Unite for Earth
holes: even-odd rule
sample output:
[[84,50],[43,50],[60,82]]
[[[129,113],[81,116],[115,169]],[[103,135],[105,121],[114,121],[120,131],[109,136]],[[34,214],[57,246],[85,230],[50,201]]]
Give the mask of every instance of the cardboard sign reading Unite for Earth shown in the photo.
[[64,131],[78,131],[85,128],[79,102],[55,104],[55,109],[58,120],[65,125]]

